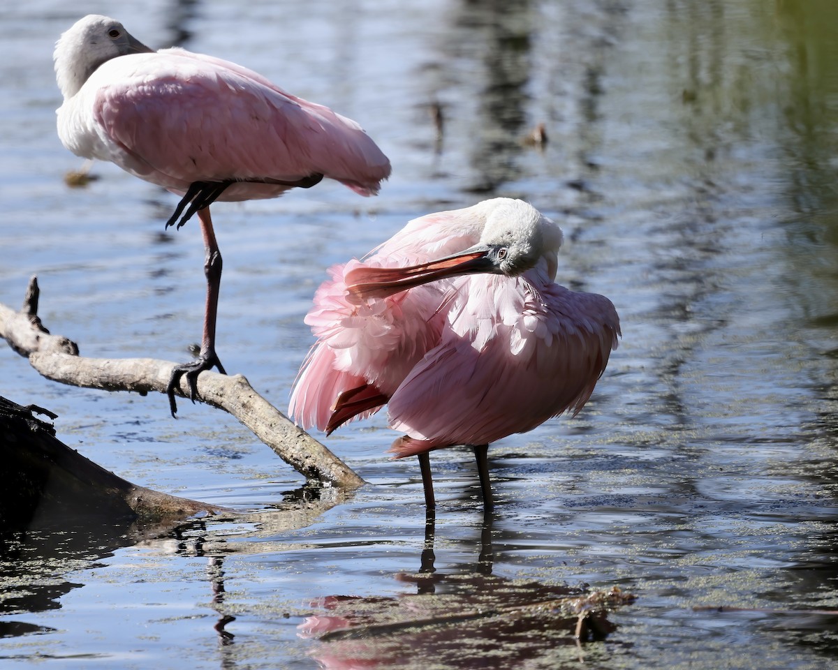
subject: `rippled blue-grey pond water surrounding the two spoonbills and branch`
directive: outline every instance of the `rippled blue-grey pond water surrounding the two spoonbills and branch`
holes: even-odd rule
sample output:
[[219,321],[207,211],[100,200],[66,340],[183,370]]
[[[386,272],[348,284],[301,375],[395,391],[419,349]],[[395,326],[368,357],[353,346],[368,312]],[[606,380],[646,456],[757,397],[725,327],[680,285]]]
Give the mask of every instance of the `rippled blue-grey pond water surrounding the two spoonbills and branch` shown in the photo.
[[[439,614],[425,598],[418,468],[387,460],[393,435],[377,416],[318,435],[370,483],[348,500],[323,492],[308,517],[196,521],[157,539],[33,530],[0,561],[0,664],[569,667],[581,655],[602,668],[827,667],[838,617],[815,611],[838,610],[832,4],[242,7],[0,9],[0,301],[17,306],[37,273],[44,323],[85,355],[184,359],[203,310],[197,226],[163,232],[175,198],[108,165],[88,188],[65,187],[80,161],[55,136],[52,46],[103,12],[147,44],[186,39],[249,65],[360,121],[394,173],[379,198],[323,183],[215,209],[227,369],[284,409],[328,265],[418,214],[530,200],[565,229],[560,281],[609,296],[623,342],[577,418],[492,446],[488,526],[468,451],[432,455],[432,602],[468,611],[481,593],[517,603],[584,584],[637,599],[582,647],[551,616],[314,634],[311,617]],[[539,122],[543,151],[520,142]],[[201,405],[171,420],[163,396],[60,386],[11,350],[0,394],[54,410],[63,441],[144,486],[242,510],[308,495]],[[742,611],[701,609],[718,606]]]

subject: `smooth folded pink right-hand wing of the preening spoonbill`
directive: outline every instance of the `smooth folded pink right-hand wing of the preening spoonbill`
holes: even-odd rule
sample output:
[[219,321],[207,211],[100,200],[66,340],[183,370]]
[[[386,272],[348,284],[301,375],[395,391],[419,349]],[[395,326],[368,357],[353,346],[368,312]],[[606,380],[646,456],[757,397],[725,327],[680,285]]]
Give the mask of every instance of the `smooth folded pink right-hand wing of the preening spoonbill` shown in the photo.
[[[611,301],[521,278],[464,277],[438,346],[389,408],[396,457],[523,433],[590,398],[620,334]],[[487,295],[488,294],[488,295]]]

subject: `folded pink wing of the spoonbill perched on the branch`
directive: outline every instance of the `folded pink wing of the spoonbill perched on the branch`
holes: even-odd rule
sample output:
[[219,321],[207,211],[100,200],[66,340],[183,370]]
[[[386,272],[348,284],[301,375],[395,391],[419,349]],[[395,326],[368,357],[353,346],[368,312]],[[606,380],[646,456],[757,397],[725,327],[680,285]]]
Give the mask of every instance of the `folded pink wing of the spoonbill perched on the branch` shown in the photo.
[[[166,188],[321,173],[370,195],[390,174],[390,162],[354,121],[241,65],[164,49],[112,59],[91,83],[100,78],[96,120],[116,154],[127,152],[109,159]],[[271,197],[277,190],[241,184],[220,199]]]

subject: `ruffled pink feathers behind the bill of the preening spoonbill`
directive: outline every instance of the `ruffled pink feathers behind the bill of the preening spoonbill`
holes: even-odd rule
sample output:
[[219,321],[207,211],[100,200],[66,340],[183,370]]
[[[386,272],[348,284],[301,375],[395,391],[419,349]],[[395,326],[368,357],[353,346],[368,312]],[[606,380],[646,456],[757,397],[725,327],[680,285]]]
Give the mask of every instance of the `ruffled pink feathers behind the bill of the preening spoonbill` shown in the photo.
[[453,253],[472,245],[480,227],[457,213],[428,214],[411,220],[364,262],[350,260],[329,269],[331,278],[318,288],[305,319],[318,342],[303,363],[288,407],[299,425],[326,430],[335,401],[363,384],[389,398],[442,331],[444,315],[437,310],[449,283],[361,300],[349,295],[346,274],[361,266],[397,267]]

